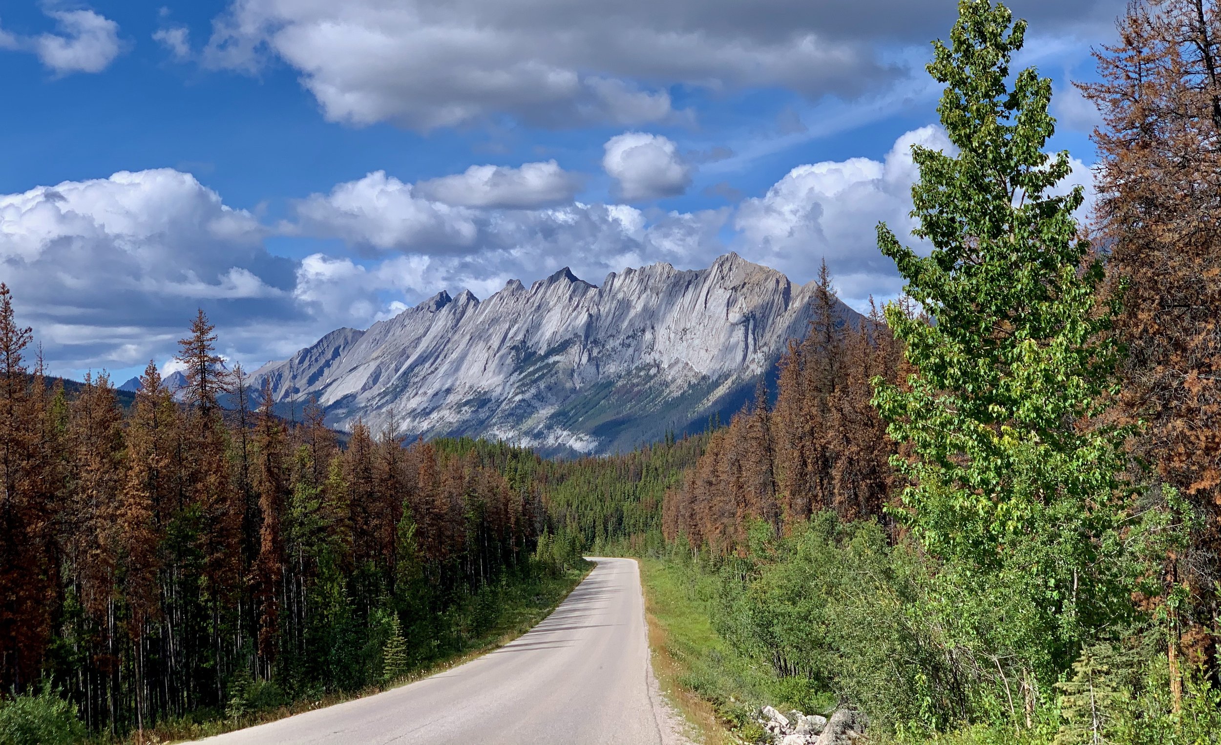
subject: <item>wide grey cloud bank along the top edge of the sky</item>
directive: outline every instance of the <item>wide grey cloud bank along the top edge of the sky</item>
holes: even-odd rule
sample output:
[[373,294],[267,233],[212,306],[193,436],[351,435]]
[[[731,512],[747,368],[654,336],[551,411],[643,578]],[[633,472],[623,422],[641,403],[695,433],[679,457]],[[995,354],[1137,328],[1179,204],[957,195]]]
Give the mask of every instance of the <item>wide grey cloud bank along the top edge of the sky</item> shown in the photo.
[[[1072,33],[1123,0],[1015,0],[1039,28]],[[673,88],[784,88],[853,99],[911,73],[886,49],[924,45],[951,0],[234,0],[206,66],[280,60],[331,121],[427,131],[498,115],[547,127],[683,121]],[[167,39],[167,44],[171,43]],[[173,46],[171,46],[173,49]]]

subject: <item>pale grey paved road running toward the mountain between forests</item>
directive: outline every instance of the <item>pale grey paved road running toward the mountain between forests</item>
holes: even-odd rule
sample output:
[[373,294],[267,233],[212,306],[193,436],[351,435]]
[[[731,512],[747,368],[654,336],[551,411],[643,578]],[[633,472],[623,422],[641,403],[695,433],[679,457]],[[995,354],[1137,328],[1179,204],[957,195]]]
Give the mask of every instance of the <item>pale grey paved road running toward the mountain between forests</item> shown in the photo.
[[[466,664],[376,696],[203,740],[216,745],[662,745],[640,574],[597,568],[542,623]],[[663,734],[664,733],[664,734]],[[663,739],[664,738],[664,739]]]

